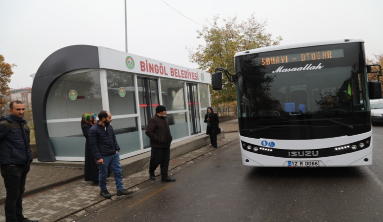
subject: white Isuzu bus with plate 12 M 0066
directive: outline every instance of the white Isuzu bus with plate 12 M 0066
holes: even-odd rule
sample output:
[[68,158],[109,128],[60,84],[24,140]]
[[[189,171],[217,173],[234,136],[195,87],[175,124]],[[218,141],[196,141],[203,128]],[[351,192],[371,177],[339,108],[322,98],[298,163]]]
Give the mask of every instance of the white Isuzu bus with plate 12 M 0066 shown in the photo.
[[381,84],[368,82],[363,40],[257,48],[236,53],[234,65],[235,75],[216,69],[213,89],[222,72],[236,82],[243,165],[372,164],[369,87]]

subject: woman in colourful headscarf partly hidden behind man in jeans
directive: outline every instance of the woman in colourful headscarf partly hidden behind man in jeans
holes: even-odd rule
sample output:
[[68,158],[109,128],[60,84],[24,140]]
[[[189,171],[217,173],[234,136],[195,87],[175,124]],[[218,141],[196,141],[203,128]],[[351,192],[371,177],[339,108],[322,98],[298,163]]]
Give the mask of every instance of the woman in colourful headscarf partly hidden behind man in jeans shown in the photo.
[[96,114],[88,112],[81,119],[81,128],[86,139],[85,143],[85,169],[84,180],[98,183],[98,167],[94,160],[92,150],[89,148],[88,131],[96,123]]

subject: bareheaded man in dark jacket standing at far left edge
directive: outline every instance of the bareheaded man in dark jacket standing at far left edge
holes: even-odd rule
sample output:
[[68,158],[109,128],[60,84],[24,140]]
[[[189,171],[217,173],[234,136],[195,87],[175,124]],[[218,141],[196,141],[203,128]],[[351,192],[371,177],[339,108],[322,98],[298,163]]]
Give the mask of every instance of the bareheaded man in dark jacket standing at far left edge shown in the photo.
[[0,172],[6,189],[5,221],[38,222],[23,216],[25,181],[33,159],[29,126],[23,119],[23,102],[11,102],[9,112],[9,115],[0,118]]

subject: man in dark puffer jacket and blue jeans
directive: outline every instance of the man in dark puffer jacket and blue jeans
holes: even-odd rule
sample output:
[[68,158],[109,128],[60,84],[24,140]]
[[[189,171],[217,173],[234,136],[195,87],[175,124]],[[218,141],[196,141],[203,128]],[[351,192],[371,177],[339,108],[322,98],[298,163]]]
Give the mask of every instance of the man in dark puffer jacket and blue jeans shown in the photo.
[[114,180],[117,187],[117,196],[133,193],[131,190],[124,189],[123,169],[120,164],[120,146],[117,144],[116,135],[112,122],[112,114],[107,111],[101,111],[98,114],[99,121],[90,127],[88,131],[89,148],[97,162],[98,166],[98,185],[100,186],[100,195],[105,198],[111,198],[112,195],[106,188],[106,178],[108,177],[108,168],[114,173]]

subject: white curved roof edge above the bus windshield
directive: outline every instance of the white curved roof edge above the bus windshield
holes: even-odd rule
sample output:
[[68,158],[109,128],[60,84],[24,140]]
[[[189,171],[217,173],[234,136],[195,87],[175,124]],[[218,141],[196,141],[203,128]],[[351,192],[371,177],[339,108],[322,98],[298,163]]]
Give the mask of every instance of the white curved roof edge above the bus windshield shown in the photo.
[[[346,41],[346,40],[348,40],[348,41]],[[262,48],[256,48],[256,49],[246,50],[246,51],[242,51],[242,52],[237,52],[237,53],[235,53],[234,57],[246,55],[246,54],[278,51],[278,50],[291,49],[291,48],[302,48],[302,47],[341,44],[341,43],[350,43],[350,42],[364,42],[364,40],[361,38],[354,38],[354,39],[308,41],[308,42],[299,42],[299,43],[291,43],[291,44],[273,45],[273,46],[268,46],[268,47],[262,47]]]

